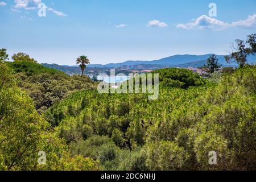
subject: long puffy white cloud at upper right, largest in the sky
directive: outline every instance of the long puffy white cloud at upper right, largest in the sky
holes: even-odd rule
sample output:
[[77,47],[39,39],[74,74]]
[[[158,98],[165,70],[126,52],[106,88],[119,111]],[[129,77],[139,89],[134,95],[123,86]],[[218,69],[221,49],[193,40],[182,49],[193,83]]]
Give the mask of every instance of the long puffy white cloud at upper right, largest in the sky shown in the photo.
[[193,20],[191,23],[177,24],[177,28],[190,29],[209,29],[209,30],[223,30],[228,27],[256,27],[256,14],[248,16],[245,20],[238,22],[226,23],[221,20],[210,18],[207,15],[201,15],[199,18]]

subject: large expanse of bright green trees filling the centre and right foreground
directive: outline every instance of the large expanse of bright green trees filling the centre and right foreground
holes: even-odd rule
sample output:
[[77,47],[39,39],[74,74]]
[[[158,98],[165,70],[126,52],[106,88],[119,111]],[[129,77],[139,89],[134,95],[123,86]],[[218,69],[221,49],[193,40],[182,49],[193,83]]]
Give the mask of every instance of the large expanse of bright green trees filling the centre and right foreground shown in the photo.
[[[255,66],[224,74],[218,84],[183,69],[156,72],[163,84],[156,101],[84,90],[44,117],[72,155],[100,159],[104,169],[255,169]],[[216,166],[208,163],[210,151]]]

